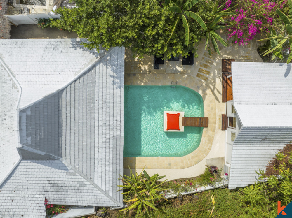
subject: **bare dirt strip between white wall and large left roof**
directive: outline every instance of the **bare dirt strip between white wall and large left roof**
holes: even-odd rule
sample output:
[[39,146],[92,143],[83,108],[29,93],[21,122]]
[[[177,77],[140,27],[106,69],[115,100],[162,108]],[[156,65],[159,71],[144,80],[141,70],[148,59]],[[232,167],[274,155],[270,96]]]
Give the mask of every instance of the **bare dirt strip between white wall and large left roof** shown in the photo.
[[11,26],[10,39],[79,38],[74,32],[57,28],[41,29],[36,24]]

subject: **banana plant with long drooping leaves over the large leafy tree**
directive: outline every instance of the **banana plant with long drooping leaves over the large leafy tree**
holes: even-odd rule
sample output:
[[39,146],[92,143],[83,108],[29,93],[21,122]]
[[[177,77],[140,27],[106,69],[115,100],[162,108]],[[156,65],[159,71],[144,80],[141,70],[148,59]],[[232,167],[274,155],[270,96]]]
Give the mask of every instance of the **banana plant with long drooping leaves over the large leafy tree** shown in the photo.
[[176,21],[175,21],[174,28],[173,28],[171,35],[169,36],[166,44],[171,39],[171,36],[173,35],[176,27],[178,26],[179,21],[182,20],[183,27],[185,28],[185,45],[186,46],[189,45],[190,31],[189,31],[189,24],[187,22],[188,17],[191,17],[192,19],[197,21],[197,23],[203,29],[205,29],[205,30],[207,29],[207,26],[206,26],[205,22],[203,21],[203,19],[197,13],[190,11],[190,9],[198,2],[199,2],[198,0],[191,0],[191,1],[187,0],[186,3],[183,3],[183,1],[176,1],[176,0],[166,0],[165,1],[165,4],[169,5],[168,10],[174,12],[176,15],[176,18],[175,18]]

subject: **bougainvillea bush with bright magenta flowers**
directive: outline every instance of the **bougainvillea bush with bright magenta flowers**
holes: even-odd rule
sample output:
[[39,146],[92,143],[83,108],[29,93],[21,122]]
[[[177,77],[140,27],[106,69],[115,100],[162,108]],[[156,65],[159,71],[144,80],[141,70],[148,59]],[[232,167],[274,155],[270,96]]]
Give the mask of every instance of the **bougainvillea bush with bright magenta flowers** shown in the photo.
[[[267,35],[268,27],[281,23],[276,9],[287,7],[287,0],[228,0],[225,7],[237,13],[228,18],[234,25],[228,29],[227,40],[239,45],[247,44],[256,36]],[[285,10],[284,10],[285,11]]]

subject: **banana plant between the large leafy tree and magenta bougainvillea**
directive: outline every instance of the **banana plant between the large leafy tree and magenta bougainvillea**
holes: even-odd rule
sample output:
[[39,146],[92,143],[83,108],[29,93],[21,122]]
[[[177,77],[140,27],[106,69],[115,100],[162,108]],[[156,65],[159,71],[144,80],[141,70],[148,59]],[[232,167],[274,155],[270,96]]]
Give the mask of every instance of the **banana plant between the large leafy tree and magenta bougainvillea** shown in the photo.
[[[206,29],[206,43],[205,43],[205,50],[208,48],[208,52],[211,55],[211,43],[213,45],[213,48],[217,54],[220,55],[220,51],[218,48],[218,44],[216,40],[218,40],[223,46],[228,46],[229,44],[216,32],[216,30],[222,30],[225,28],[229,28],[234,24],[229,25],[222,25],[224,24],[224,18],[229,15],[235,15],[236,13],[231,12],[232,8],[227,8],[226,10],[220,11],[225,6],[226,2],[223,3],[220,7],[218,7],[218,0],[216,0],[215,5],[212,10],[211,16],[213,17],[212,21],[207,23],[207,29]],[[218,24],[221,23],[221,24]],[[208,46],[209,45],[209,46]]]

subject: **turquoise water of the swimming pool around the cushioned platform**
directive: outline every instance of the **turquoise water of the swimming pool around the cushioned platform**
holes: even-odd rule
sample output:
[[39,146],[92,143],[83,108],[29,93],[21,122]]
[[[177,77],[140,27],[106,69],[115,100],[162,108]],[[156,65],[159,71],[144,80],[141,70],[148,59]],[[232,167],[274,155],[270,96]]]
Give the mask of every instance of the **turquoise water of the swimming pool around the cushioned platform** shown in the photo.
[[184,86],[125,86],[124,157],[182,157],[199,147],[203,127],[164,132],[163,111],[204,117],[203,99]]

